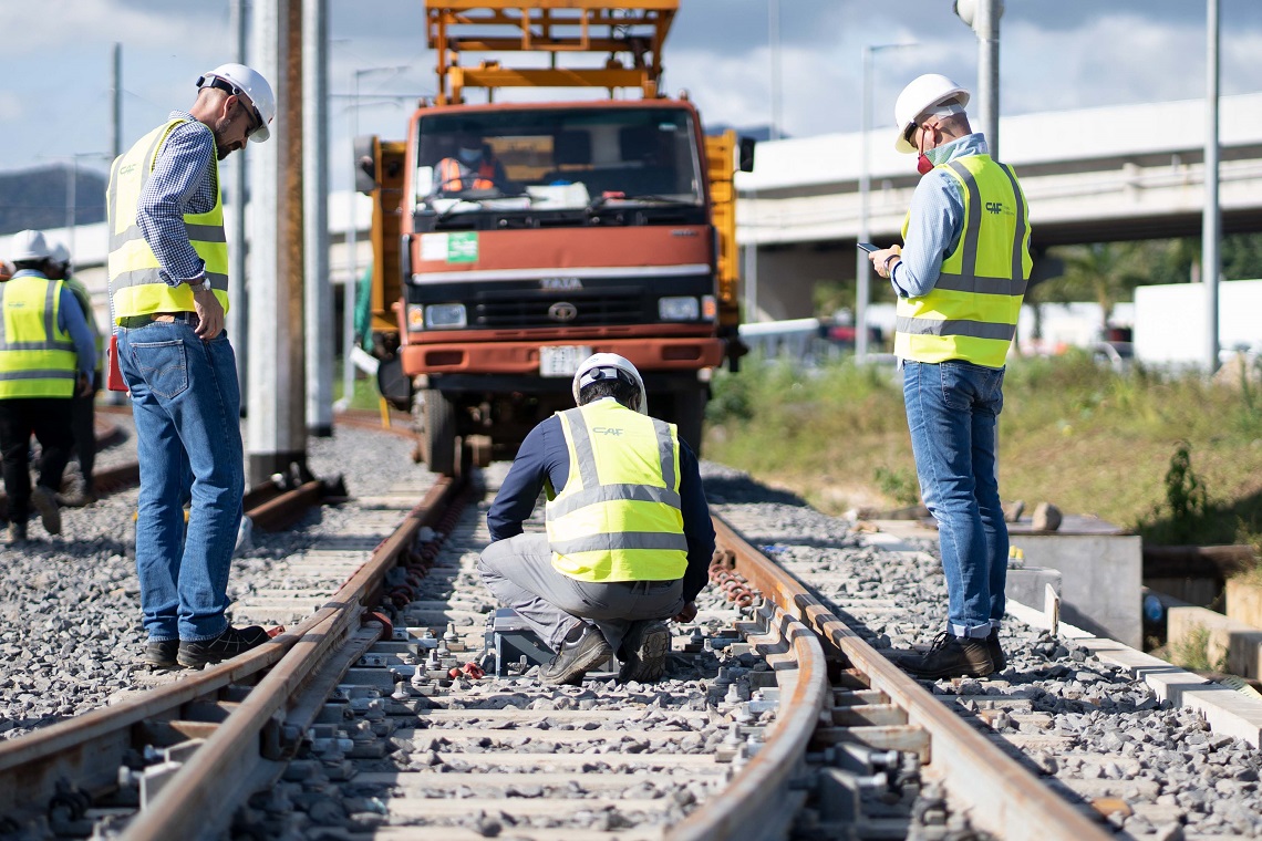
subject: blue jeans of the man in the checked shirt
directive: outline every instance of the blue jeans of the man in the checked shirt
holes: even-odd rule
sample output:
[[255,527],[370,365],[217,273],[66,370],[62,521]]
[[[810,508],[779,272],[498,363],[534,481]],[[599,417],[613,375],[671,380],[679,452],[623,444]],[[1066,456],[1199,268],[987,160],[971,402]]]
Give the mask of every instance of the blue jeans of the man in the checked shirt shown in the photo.
[[[136,574],[149,639],[211,639],[226,627],[241,526],[241,388],[227,332],[183,322],[117,328],[140,460]],[[186,533],[184,504],[192,502]]]

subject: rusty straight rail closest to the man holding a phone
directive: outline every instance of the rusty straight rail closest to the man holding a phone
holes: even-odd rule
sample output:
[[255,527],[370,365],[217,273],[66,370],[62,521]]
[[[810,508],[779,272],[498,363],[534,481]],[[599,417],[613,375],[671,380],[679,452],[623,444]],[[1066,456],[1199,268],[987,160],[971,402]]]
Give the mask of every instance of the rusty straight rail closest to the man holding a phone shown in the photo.
[[890,701],[907,714],[907,722],[930,738],[930,763],[948,791],[968,811],[974,827],[1006,841],[1104,841],[1112,833],[1054,794],[1016,759],[973,730],[920,683],[863,642],[805,584],[753,548],[721,517],[714,517],[718,542],[736,555],[736,569],[764,595],[810,627],[839,651]]

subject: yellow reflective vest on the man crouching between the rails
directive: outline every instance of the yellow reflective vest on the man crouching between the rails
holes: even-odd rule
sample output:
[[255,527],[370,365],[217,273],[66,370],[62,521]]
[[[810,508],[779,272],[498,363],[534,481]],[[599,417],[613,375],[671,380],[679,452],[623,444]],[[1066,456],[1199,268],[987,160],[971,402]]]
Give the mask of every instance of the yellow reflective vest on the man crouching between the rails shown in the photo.
[[553,567],[579,581],[673,581],[688,566],[679,435],[616,400],[558,412],[569,475],[548,489]]

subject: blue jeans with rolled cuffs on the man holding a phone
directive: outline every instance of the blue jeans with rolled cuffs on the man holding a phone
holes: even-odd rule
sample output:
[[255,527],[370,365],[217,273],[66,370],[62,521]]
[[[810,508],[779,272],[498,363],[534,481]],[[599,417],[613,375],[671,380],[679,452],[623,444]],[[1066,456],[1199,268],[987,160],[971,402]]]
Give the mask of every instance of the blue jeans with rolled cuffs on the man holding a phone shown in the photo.
[[1003,368],[907,361],[902,396],[920,493],[938,521],[950,630],[984,637],[1003,619],[1008,575],[996,475]]

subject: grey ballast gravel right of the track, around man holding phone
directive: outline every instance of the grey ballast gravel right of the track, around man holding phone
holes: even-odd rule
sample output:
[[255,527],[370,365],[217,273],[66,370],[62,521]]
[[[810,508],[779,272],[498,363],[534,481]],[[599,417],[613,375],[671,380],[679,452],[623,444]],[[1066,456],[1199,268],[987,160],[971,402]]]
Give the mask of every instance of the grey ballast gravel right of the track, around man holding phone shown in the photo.
[[[703,479],[716,513],[803,577],[819,576],[819,595],[875,648],[928,644],[945,627],[936,542],[919,541],[919,552],[883,550],[853,523],[740,472],[703,463]],[[1262,751],[1212,733],[1194,710],[1159,701],[1146,683],[1073,641],[1012,619],[1000,638],[1008,658],[1002,673],[928,686],[996,733],[1060,736],[1056,754],[1026,758],[1065,792],[1080,780],[1118,780],[1127,803],[1107,820],[1121,831],[1262,837]]]

